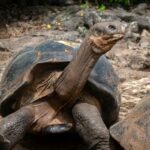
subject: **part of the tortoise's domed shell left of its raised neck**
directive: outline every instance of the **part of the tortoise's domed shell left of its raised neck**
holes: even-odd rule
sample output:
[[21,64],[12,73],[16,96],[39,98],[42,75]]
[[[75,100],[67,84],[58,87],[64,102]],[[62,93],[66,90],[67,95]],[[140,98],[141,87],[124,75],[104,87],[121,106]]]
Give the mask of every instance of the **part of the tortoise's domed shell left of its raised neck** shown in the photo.
[[50,85],[72,56],[72,47],[53,41],[18,53],[2,76],[1,114],[5,116],[14,109],[41,99],[48,90],[50,94],[53,90],[49,89]]

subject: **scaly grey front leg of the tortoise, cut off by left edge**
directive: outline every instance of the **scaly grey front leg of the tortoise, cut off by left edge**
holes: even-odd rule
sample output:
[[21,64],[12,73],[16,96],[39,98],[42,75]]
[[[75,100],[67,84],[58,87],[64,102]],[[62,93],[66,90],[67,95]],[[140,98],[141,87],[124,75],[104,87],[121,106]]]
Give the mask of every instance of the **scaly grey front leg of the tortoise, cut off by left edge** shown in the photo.
[[0,121],[0,150],[9,150],[20,141],[34,120],[32,109],[24,107],[1,119]]

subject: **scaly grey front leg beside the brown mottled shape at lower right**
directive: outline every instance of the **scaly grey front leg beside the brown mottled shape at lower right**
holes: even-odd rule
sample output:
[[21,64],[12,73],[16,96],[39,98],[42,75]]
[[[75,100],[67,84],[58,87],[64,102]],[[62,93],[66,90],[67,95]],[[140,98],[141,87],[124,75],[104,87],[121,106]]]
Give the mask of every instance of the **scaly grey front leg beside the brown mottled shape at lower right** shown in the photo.
[[[92,99],[93,100],[93,99]],[[122,150],[109,134],[101,117],[100,107],[95,103],[79,102],[72,109],[75,128],[89,150]]]

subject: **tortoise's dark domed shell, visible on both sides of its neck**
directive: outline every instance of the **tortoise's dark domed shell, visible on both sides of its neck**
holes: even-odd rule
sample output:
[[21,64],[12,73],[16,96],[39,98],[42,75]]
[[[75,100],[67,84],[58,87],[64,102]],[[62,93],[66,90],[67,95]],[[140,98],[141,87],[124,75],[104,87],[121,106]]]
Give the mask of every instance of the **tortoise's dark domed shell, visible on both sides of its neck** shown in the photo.
[[[6,116],[50,94],[50,85],[73,58],[78,48],[47,41],[20,51],[7,66],[1,80],[0,111]],[[118,77],[102,56],[92,70],[86,87],[101,102],[104,122],[109,126],[119,112]],[[109,117],[111,116],[111,121]]]

